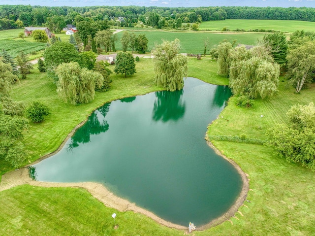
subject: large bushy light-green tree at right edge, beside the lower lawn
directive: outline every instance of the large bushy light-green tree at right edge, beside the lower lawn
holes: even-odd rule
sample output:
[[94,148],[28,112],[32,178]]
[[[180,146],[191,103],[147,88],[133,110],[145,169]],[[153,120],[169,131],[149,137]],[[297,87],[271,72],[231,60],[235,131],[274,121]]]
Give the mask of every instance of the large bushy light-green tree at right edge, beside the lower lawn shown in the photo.
[[288,162],[301,163],[315,171],[315,106],[294,105],[286,113],[287,124],[269,129],[267,145]]

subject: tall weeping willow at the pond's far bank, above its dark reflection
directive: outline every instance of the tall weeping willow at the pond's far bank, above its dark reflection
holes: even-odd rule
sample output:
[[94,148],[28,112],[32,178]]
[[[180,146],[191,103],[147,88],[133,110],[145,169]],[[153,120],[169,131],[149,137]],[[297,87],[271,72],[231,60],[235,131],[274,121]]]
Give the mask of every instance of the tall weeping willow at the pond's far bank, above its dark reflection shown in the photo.
[[181,90],[187,76],[187,57],[179,54],[180,40],[164,41],[152,50],[155,80],[159,87],[168,91]]

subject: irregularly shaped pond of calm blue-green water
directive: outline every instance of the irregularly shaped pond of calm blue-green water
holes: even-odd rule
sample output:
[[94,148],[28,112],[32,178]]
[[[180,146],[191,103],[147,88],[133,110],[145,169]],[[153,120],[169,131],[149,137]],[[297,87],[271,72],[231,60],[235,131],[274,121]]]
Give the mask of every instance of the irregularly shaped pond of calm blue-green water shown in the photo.
[[107,103],[59,153],[34,165],[37,180],[99,182],[164,220],[207,224],[242,188],[236,169],[204,139],[230,96],[227,86],[187,78],[182,91]]

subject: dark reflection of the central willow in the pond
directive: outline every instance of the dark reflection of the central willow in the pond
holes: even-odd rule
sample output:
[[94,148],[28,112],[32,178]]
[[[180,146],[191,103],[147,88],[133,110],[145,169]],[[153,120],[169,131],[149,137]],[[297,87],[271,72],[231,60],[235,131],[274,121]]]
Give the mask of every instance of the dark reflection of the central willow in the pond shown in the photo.
[[156,92],[156,101],[153,108],[153,120],[167,122],[179,120],[185,114],[185,102],[182,101],[183,90],[174,92]]

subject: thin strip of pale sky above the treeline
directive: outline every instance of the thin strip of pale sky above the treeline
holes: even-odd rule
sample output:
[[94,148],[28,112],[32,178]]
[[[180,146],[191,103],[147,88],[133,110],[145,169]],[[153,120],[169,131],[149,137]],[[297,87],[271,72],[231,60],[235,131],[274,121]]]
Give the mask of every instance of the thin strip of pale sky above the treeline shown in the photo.
[[41,6],[280,6],[280,7],[315,7],[315,0],[1,0],[8,5]]

